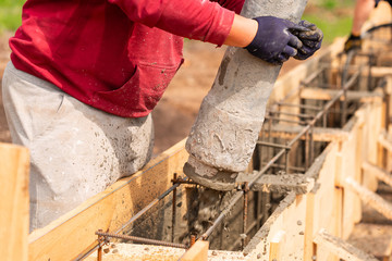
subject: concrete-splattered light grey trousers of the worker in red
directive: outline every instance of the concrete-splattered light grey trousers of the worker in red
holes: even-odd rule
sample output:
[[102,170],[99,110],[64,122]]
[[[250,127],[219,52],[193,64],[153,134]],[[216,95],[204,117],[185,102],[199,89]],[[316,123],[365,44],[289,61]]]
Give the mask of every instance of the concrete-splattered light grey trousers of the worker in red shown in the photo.
[[30,152],[30,231],[142,169],[154,146],[151,116],[94,109],[10,62],[2,95],[12,141]]

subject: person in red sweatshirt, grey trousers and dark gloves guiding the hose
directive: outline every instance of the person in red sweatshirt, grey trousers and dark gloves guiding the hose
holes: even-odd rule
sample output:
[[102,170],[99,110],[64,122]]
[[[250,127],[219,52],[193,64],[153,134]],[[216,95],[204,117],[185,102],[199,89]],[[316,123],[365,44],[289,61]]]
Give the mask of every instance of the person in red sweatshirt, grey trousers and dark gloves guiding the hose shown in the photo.
[[148,162],[183,37],[274,64],[320,48],[315,25],[246,18],[243,2],[26,1],[2,88],[12,140],[30,151],[30,231]]

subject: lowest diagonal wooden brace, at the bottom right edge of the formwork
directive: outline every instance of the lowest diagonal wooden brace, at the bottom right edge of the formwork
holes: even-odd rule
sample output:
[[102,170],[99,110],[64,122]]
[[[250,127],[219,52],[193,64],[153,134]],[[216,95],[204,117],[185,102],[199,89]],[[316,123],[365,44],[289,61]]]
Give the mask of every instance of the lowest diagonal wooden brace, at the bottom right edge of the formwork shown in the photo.
[[373,256],[368,254],[343,239],[332,236],[326,229],[320,229],[315,237],[318,247],[326,248],[343,260],[350,261],[378,261]]

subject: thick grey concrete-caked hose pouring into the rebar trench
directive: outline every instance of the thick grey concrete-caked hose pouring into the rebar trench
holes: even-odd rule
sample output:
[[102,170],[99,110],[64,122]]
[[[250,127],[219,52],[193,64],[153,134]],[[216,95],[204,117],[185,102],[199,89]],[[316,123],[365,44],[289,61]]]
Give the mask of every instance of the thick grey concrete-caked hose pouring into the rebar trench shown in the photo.
[[[246,0],[245,17],[277,16],[298,23],[306,0]],[[189,159],[184,173],[217,190],[235,188],[238,172],[248,166],[261,129],[267,101],[281,65],[229,47],[211,90],[203,100],[186,140]]]

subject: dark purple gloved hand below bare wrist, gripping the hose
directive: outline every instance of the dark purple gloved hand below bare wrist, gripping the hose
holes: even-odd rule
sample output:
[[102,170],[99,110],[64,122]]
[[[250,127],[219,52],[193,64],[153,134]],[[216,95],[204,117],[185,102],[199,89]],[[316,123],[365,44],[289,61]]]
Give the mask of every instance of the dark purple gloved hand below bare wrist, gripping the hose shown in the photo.
[[292,34],[307,32],[306,27],[294,24],[289,20],[274,16],[259,16],[254,18],[258,23],[258,29],[253,41],[245,47],[253,55],[272,64],[282,64],[290,57],[297,54],[303,44]]

